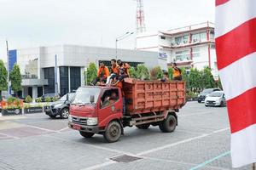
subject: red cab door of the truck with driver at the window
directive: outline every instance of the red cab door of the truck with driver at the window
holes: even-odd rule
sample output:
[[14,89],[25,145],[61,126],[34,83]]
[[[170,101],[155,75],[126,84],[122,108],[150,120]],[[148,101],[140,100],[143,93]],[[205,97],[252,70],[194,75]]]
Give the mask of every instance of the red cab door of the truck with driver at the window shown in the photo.
[[118,88],[107,89],[101,96],[100,110],[98,111],[99,126],[105,127],[113,119],[122,116],[122,98]]

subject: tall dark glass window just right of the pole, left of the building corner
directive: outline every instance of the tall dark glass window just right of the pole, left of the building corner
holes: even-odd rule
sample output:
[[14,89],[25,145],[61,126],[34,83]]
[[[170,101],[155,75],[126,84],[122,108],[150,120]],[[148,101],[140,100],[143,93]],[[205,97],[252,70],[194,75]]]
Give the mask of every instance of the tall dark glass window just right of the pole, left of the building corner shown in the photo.
[[67,66],[60,67],[60,87],[61,87],[61,96],[69,92]]

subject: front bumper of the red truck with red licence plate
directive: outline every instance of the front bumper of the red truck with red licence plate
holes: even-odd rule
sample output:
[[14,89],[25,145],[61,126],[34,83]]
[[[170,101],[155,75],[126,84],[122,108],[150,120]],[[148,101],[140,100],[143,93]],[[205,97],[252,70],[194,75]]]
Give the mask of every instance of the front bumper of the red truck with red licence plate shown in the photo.
[[68,122],[68,127],[74,130],[84,131],[86,133],[102,133],[105,131],[105,128],[102,127],[79,125],[73,122]]

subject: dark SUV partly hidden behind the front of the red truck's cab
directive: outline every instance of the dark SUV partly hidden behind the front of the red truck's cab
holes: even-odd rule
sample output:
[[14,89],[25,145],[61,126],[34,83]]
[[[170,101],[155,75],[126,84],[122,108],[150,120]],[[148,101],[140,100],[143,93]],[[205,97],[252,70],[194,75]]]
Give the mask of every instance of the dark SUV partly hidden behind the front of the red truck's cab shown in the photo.
[[73,99],[75,93],[66,94],[61,99],[46,106],[45,114],[54,118],[55,116],[61,116],[61,118],[67,119],[69,115],[69,105]]

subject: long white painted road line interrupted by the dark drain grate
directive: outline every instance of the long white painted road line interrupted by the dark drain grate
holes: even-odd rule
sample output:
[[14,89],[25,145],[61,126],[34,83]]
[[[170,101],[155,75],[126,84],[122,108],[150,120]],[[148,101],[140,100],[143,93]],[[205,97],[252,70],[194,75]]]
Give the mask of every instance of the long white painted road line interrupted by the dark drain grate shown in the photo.
[[[216,130],[216,131],[213,131],[212,133],[204,133],[204,134],[201,134],[199,136],[195,136],[193,138],[189,138],[189,139],[184,139],[184,140],[181,140],[179,142],[176,142],[176,143],[173,143],[173,144],[166,144],[164,146],[160,146],[160,147],[157,147],[157,148],[154,148],[152,150],[147,150],[147,151],[143,151],[143,152],[140,152],[138,154],[129,154],[127,153],[126,155],[131,155],[131,156],[143,156],[143,155],[146,155],[146,154],[149,154],[149,153],[152,153],[152,152],[155,152],[155,151],[159,151],[159,150],[164,150],[166,148],[170,148],[172,146],[176,146],[178,144],[184,144],[184,143],[187,143],[187,142],[190,142],[190,141],[193,141],[195,139],[202,139],[202,138],[205,138],[207,136],[210,136],[212,134],[216,134],[216,133],[221,133],[221,132],[224,132],[226,130],[229,130],[230,127],[225,127],[225,128],[222,128],[222,129],[219,129],[219,130]],[[102,164],[97,164],[95,166],[92,166],[92,167],[86,167],[84,169],[81,169],[81,170],[94,170],[94,169],[101,169],[102,167],[107,167],[108,165],[112,165],[114,163],[117,163],[116,161],[107,161],[105,163],[102,163]]]

